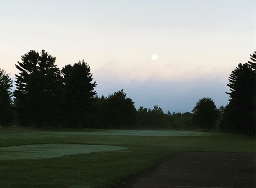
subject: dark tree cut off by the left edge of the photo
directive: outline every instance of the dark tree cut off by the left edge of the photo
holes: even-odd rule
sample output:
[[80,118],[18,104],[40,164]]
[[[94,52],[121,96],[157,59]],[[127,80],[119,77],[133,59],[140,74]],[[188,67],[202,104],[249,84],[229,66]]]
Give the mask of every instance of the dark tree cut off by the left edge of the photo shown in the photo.
[[13,121],[13,111],[11,109],[13,81],[9,74],[0,69],[0,125],[8,126]]

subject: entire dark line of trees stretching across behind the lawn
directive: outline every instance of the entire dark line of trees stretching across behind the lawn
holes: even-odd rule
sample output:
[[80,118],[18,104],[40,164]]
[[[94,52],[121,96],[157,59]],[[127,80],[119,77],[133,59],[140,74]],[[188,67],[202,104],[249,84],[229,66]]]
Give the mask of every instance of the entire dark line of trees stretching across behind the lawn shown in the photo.
[[139,107],[119,90],[99,97],[90,66],[84,61],[59,69],[56,57],[30,50],[15,64],[13,81],[0,69],[0,125],[141,130],[222,130],[255,135],[256,52],[229,76],[229,103],[218,109],[201,98],[191,112],[172,114],[155,105]]

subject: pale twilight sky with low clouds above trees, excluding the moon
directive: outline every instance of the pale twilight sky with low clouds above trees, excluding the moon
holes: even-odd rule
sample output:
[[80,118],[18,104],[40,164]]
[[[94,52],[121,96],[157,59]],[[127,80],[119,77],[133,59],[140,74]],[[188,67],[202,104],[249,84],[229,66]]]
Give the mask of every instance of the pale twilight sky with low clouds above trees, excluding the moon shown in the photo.
[[137,109],[226,106],[255,23],[255,0],[0,0],[0,68],[15,81],[21,55],[45,49],[60,69],[84,59],[99,96],[124,89]]

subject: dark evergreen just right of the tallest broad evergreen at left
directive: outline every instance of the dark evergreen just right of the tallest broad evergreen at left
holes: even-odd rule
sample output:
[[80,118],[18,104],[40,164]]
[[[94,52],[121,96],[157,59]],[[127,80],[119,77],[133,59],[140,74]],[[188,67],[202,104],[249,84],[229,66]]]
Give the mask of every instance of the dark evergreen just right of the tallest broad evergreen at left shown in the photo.
[[96,94],[90,66],[83,60],[62,69],[65,90],[66,117],[78,123],[82,128],[82,121],[88,122],[92,115],[93,96]]

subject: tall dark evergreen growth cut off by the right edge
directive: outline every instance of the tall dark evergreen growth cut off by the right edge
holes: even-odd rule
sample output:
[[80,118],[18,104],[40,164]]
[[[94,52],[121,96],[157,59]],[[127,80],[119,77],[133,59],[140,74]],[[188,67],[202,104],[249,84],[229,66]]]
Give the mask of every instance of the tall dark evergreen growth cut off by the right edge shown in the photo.
[[[251,55],[252,61],[256,61],[256,52]],[[229,77],[231,92],[229,103],[225,110],[225,121],[223,128],[239,131],[241,133],[252,133],[255,135],[256,119],[256,72],[255,63],[241,64],[233,70]]]

